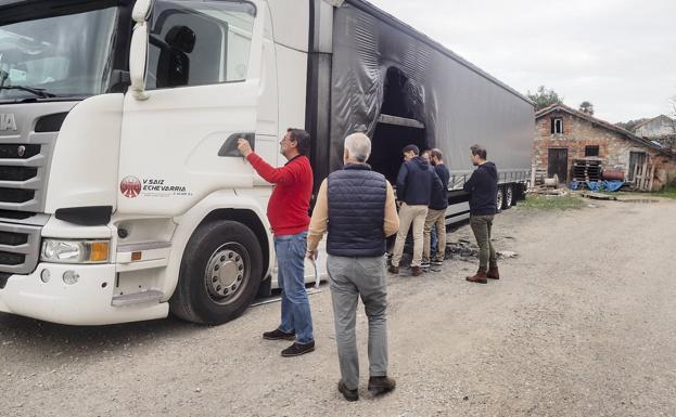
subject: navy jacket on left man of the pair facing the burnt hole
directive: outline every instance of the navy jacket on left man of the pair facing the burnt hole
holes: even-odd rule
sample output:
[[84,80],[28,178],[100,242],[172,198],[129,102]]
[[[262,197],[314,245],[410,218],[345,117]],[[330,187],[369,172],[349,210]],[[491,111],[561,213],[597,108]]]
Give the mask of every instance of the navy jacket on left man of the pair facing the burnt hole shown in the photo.
[[417,156],[399,168],[397,199],[409,206],[430,206],[432,190],[442,186],[441,182],[430,162]]

